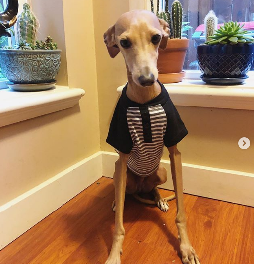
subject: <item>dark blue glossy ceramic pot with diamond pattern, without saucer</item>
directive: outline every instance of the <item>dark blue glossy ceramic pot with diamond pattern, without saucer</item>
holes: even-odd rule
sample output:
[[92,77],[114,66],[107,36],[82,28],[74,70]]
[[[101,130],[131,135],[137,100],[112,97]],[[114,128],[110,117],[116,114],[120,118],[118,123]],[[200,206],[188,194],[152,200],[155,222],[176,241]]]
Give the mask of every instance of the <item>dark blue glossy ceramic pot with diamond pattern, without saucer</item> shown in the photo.
[[204,77],[245,77],[254,61],[254,44],[198,45],[197,60]]

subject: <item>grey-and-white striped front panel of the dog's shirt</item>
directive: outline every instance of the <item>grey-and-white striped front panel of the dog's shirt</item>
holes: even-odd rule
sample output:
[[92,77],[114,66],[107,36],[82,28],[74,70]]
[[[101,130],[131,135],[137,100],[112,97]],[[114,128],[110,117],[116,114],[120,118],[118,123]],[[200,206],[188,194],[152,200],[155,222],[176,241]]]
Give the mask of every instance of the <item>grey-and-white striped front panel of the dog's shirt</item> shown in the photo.
[[127,122],[133,142],[127,165],[135,174],[146,177],[153,174],[163,154],[163,137],[166,131],[167,118],[161,105],[148,107],[151,119],[152,142],[144,142],[142,117],[139,108],[129,107]]

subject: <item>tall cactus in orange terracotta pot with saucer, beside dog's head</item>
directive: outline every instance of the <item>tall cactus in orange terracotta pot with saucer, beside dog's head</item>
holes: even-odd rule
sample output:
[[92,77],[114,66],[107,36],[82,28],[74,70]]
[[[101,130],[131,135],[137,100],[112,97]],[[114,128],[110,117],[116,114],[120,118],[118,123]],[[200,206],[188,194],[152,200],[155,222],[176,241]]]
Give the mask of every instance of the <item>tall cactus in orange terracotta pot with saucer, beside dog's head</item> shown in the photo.
[[[157,67],[159,79],[163,83],[181,82],[185,76],[183,71],[185,56],[189,47],[189,40],[184,37],[183,31],[189,30],[189,22],[182,22],[183,8],[178,0],[172,3],[171,14],[169,12],[168,0],[165,2],[165,11],[159,12],[159,0],[157,1],[156,15],[169,24],[170,35],[165,50],[159,50]],[[154,12],[153,0],[151,0],[151,11]]]

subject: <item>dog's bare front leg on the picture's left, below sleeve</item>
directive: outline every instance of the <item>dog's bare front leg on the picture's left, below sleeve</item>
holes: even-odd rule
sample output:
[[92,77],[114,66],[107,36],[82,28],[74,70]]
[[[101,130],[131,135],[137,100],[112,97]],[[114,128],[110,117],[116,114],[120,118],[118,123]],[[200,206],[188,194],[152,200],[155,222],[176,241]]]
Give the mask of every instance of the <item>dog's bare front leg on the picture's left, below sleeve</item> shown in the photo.
[[123,212],[125,202],[126,189],[126,172],[128,154],[120,152],[120,157],[115,164],[114,184],[116,199],[116,215],[115,230],[113,235],[113,244],[110,255],[105,264],[120,264],[120,254],[122,254],[122,246],[125,237],[125,229],[123,226]]

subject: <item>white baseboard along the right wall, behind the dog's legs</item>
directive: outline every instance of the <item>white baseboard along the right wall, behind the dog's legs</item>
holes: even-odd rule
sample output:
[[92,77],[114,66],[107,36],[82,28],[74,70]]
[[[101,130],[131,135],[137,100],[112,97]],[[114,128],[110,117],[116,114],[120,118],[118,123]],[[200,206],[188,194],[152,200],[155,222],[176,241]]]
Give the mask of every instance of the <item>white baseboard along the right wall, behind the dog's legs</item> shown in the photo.
[[[102,152],[103,176],[113,176],[118,157]],[[170,162],[162,160],[162,164],[171,175]],[[254,207],[254,173],[183,163],[183,182],[185,193]],[[171,177],[160,187],[173,190]]]

